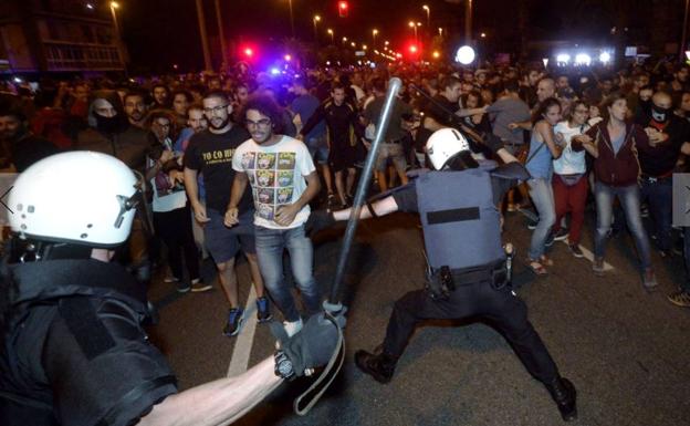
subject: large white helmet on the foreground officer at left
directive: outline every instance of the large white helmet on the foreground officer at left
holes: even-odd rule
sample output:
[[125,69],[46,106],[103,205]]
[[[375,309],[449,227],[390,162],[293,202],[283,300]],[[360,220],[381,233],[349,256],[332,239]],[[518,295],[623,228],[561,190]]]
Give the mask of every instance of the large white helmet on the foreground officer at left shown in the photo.
[[10,227],[22,239],[113,248],[129,235],[137,193],[136,176],[113,156],[56,154],[17,178]]

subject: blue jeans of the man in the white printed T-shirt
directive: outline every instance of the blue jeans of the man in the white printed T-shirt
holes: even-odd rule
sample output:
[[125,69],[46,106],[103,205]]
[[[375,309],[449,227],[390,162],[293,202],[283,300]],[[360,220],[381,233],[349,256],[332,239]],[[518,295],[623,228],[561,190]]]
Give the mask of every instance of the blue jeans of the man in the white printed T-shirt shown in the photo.
[[321,311],[321,291],[312,273],[314,248],[304,235],[304,225],[291,229],[255,228],[259,269],[271,299],[283,313],[285,321],[300,319],[290,288],[283,277],[283,251],[288,249],[295,283],[302,293],[307,315]]

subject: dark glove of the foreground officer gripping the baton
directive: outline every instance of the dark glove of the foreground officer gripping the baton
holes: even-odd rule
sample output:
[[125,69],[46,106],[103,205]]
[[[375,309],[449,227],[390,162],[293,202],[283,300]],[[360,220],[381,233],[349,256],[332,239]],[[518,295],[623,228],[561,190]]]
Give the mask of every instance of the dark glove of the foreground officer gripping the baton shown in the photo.
[[345,322],[344,311],[328,316],[320,312],[312,315],[292,337],[288,337],[280,322],[272,322],[271,332],[280,345],[275,354],[275,373],[292,380],[303,376],[307,370],[326,365],[334,355]]

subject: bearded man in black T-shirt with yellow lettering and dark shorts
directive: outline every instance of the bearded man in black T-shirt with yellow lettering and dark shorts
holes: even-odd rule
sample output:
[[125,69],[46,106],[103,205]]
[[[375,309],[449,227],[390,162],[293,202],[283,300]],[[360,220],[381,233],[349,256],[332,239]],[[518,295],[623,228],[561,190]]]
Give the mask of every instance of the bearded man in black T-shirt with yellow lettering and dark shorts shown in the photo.
[[[203,97],[203,114],[208,120],[209,128],[195,134],[189,141],[189,146],[185,152],[185,187],[195,218],[203,225],[206,247],[213,257],[218,269],[218,280],[230,302],[223,334],[233,336],[240,331],[244,313],[239,302],[238,279],[234,271],[234,257],[240,249],[249,260],[257,291],[257,318],[259,322],[271,319],[269,300],[263,293],[263,281],[257,262],[250,193],[239,195],[237,202],[239,225],[232,229],[223,225],[230,187],[236,175],[232,169],[232,155],[240,144],[249,139],[249,134],[230,121],[232,105],[221,91],[209,92]],[[199,200],[197,184],[199,173],[203,174],[206,205]]]

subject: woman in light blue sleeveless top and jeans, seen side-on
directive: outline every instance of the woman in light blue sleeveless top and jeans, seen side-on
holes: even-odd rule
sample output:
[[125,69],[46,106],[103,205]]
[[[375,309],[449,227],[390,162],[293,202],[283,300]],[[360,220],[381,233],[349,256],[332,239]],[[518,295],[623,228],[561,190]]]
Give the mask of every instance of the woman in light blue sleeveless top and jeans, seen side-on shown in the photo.
[[561,146],[554,136],[554,126],[561,120],[561,103],[555,97],[548,97],[542,102],[535,112],[532,123],[532,137],[530,153],[525,167],[532,175],[527,180],[532,202],[539,214],[539,222],[532,240],[527,263],[530,269],[539,276],[547,273],[546,267],[553,266],[553,261],[544,254],[546,239],[556,219],[553,187],[553,159],[561,156]]

